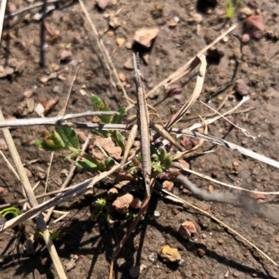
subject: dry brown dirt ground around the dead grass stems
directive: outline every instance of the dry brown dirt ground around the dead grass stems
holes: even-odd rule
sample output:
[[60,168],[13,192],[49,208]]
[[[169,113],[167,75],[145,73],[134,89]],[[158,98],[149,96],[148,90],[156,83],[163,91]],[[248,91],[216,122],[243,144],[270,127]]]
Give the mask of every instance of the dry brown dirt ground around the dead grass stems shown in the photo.
[[[16,3],[15,3],[16,2]],[[16,8],[28,6],[29,1],[15,1]],[[30,1],[31,2],[31,1]],[[206,1],[111,1],[107,8],[98,10],[95,1],[84,1],[89,15],[96,24],[96,28],[103,35],[103,42],[118,72],[126,77],[126,90],[128,95],[135,99],[135,86],[133,70],[124,67],[132,58],[133,35],[142,27],[157,26],[160,29],[149,51],[148,65],[142,61],[142,72],[146,79],[146,90],[150,90],[157,83],[172,74],[199,50],[217,38],[226,24],[223,1],[218,1],[216,7],[206,7]],[[213,1],[214,2],[214,1]],[[32,102],[44,103],[50,99],[57,101],[55,106],[45,114],[46,117],[58,115],[66,104],[69,84],[80,67],[75,81],[73,92],[67,107],[67,113],[88,111],[91,109],[90,99],[80,93],[95,94],[107,101],[112,109],[116,109],[122,97],[121,90],[117,90],[110,83],[110,72],[103,64],[96,38],[91,31],[89,23],[77,1],[60,1],[56,8],[45,19],[50,30],[59,34],[56,40],[53,35],[45,31],[45,69],[40,67],[40,22],[33,20],[39,8],[28,10],[6,22],[4,40],[1,43],[1,63],[23,64],[15,69],[17,71],[0,79],[1,109],[3,115],[15,115],[17,118],[38,117],[33,111]],[[251,39],[245,45],[241,44],[243,35],[243,19],[240,18],[241,8],[250,8],[255,14],[258,10],[264,18],[265,31],[259,40]],[[15,9],[13,6],[11,10]],[[229,115],[229,120],[239,127],[250,131],[256,139],[244,136],[225,120],[218,120],[209,126],[209,134],[227,141],[243,145],[266,157],[278,159],[278,106],[279,106],[279,74],[278,74],[278,34],[279,30],[279,2],[274,1],[241,1],[241,7],[232,17],[232,23],[237,23],[236,29],[227,36],[227,40],[218,42],[216,47],[223,51],[223,57],[208,58],[208,67],[202,90],[203,102],[214,109],[233,93],[235,79],[242,78],[249,87],[250,100],[243,104],[238,113]],[[199,17],[196,17],[196,14]],[[110,15],[110,17],[107,17]],[[108,28],[112,15],[118,20],[120,26],[116,29]],[[170,20],[176,19],[176,26],[169,26]],[[173,23],[173,22],[172,22]],[[171,24],[171,23],[170,23]],[[228,22],[227,24],[231,24]],[[271,33],[275,34],[271,38]],[[117,38],[124,38],[128,45],[119,47]],[[61,63],[60,56],[63,49],[72,53],[72,60]],[[142,54],[142,52],[140,52]],[[11,62],[10,59],[13,59]],[[7,62],[8,61],[8,62]],[[50,77],[55,72],[58,77],[42,83],[42,78]],[[169,113],[170,107],[186,100],[195,87],[197,70],[188,74],[176,84],[182,88],[181,95],[166,97],[163,87],[156,91],[149,104],[158,109],[160,115]],[[29,99],[31,109],[24,114],[22,102],[27,99],[24,92],[31,90]],[[229,95],[221,112],[235,106],[241,95]],[[242,112],[246,110],[246,112]],[[135,111],[129,111],[132,115]],[[211,113],[206,106],[196,102],[190,114],[179,122],[179,127],[188,127],[198,121],[198,115]],[[163,120],[169,119],[165,116]],[[91,118],[87,118],[91,121]],[[31,184],[42,180],[38,169],[47,170],[50,162],[50,152],[42,151],[31,145],[31,142],[40,137],[40,133],[47,128],[14,129],[12,135],[15,144],[24,161],[37,160],[31,166]],[[88,133],[88,131],[85,131]],[[2,136],[1,136],[2,137]],[[93,143],[93,142],[92,142]],[[278,169],[264,163],[244,157],[238,152],[228,150],[217,145],[205,143],[195,154],[187,157],[186,161],[193,170],[205,175],[214,175],[216,179],[231,184],[237,184],[247,189],[258,191],[278,191]],[[11,161],[8,151],[3,151]],[[66,154],[54,154],[50,175],[59,184],[66,179],[61,170],[70,169],[71,163],[64,161]],[[1,161],[0,181],[8,191],[0,200],[1,204],[22,198],[21,185],[9,170],[3,159]],[[83,181],[90,177],[88,173],[75,173],[71,184]],[[200,188],[207,189],[210,182],[190,175],[190,180]],[[43,179],[42,182],[45,180]],[[96,196],[110,189],[114,180],[107,179],[98,184]],[[59,187],[51,180],[48,191]],[[43,193],[43,183],[35,190],[36,194]],[[221,205],[216,202],[203,202],[188,196],[180,185],[172,190],[176,195],[192,202],[194,205],[208,209],[208,212],[220,218],[234,230],[247,237],[259,246],[275,262],[279,263],[279,221],[278,199],[276,196],[266,196],[264,212],[260,210],[259,203],[255,208],[243,209],[232,205]],[[229,189],[213,184],[213,191],[228,192]],[[143,198],[142,194],[135,194]],[[100,197],[100,195],[99,195]],[[104,223],[94,223],[89,218],[93,198],[77,198],[57,207],[61,211],[68,211],[58,224],[50,225],[50,230],[60,232],[61,237],[54,241],[63,265],[70,262],[73,255],[77,255],[75,267],[67,272],[68,278],[107,278],[110,258],[116,244],[122,239],[130,225],[130,221],[117,217],[114,227],[108,229]],[[206,206],[206,207],[205,207]],[[154,211],[160,213],[154,216]],[[57,217],[54,214],[54,217]],[[54,219],[53,219],[54,220]],[[197,233],[186,241],[177,232],[183,221],[193,221]],[[35,224],[27,223],[27,232],[35,231]],[[0,235],[1,278],[58,278],[54,266],[43,242],[38,242],[33,255],[22,253],[18,248],[18,231],[9,230]],[[197,254],[197,244],[203,239],[206,244],[206,253],[203,257]],[[21,239],[22,240],[22,239]],[[158,248],[169,244],[178,248],[183,261],[181,264],[165,263],[158,257]],[[71,256],[72,255],[72,256]],[[141,267],[140,275],[137,269]],[[134,268],[134,269],[132,269]],[[143,221],[137,226],[135,232],[121,250],[115,266],[115,278],[279,278],[279,270],[269,260],[262,257],[254,248],[246,245],[239,237],[229,233],[218,223],[203,216],[190,207],[181,207],[153,194],[149,209]],[[133,272],[134,271],[134,272]]]

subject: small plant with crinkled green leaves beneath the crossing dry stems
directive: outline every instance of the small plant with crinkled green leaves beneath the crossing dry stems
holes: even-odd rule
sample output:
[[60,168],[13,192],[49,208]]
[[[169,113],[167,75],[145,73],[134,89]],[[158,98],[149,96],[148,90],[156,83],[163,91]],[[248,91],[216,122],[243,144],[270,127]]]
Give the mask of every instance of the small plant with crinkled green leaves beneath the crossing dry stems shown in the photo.
[[[110,111],[110,106],[108,106],[108,104],[101,100],[99,97],[93,96],[91,98],[91,103],[94,111]],[[125,110],[126,106],[121,106],[117,110],[118,115],[100,115],[99,118],[101,122],[105,124],[121,124],[123,121]],[[93,129],[92,133],[97,134],[98,136],[101,136],[103,138],[108,138],[110,136],[112,138],[112,141],[114,142],[114,145],[119,146],[123,152],[125,151],[126,148],[124,145],[124,139],[120,131],[103,131]],[[114,160],[110,157],[105,159],[104,162],[100,162],[97,159],[91,157],[86,152],[80,150],[80,142],[77,134],[75,133],[75,130],[70,127],[55,127],[55,130],[52,133],[49,131],[45,131],[43,133],[43,139],[36,140],[35,144],[45,150],[68,151],[70,154],[65,158],[66,160],[81,157],[81,160],[75,162],[75,166],[77,168],[80,168],[81,170],[89,171],[91,173],[98,170],[109,170],[110,168],[112,168],[112,166],[114,166]],[[156,175],[158,175],[158,173],[163,173],[170,167],[172,159],[169,153],[167,153],[165,150],[162,150],[161,146],[152,145],[151,154],[151,166],[153,170],[152,175],[153,177],[155,177]],[[133,164],[131,164],[126,169],[126,173],[132,173],[133,170],[140,169],[140,160],[141,154],[139,153],[137,157],[132,160]],[[99,207],[100,210],[98,210],[96,214],[93,214],[93,216],[91,217],[93,218],[93,220],[97,220],[100,215],[104,216],[104,214],[102,213],[103,207],[98,204],[101,200],[102,199],[96,202],[97,207]],[[108,214],[106,218],[109,219],[110,214]]]

